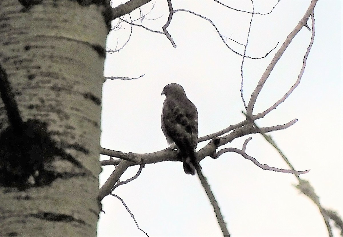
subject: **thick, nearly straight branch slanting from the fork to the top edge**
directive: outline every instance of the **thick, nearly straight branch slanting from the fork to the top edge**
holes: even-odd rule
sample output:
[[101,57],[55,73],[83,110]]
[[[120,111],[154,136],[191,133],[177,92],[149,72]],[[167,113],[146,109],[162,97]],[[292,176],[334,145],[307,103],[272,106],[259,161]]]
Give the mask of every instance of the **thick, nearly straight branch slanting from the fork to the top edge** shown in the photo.
[[249,103],[248,103],[248,110],[247,110],[247,114],[248,115],[252,115],[252,110],[253,107],[256,103],[256,99],[257,96],[259,95],[259,93],[262,90],[262,87],[265,83],[265,81],[268,79],[271,71],[273,70],[273,68],[275,67],[277,61],[279,61],[279,59],[281,58],[282,54],[284,53],[284,51],[286,50],[286,48],[288,47],[289,44],[291,44],[292,39],[298,34],[298,32],[300,31],[301,28],[303,28],[303,26],[305,26],[307,20],[309,19],[316,3],[318,0],[312,0],[311,4],[309,6],[309,8],[307,9],[305,15],[303,16],[303,18],[300,20],[300,22],[298,23],[298,25],[293,29],[293,31],[287,36],[285,42],[282,44],[281,48],[276,52],[274,58],[271,60],[270,64],[268,65],[267,69],[265,70],[265,72],[263,73],[260,81],[258,82],[254,92],[252,93]]

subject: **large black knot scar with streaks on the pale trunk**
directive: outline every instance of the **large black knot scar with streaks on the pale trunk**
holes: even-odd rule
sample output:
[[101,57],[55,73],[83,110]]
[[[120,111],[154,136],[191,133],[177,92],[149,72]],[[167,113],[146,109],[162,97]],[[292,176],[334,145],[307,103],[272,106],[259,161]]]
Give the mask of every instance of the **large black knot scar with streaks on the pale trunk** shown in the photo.
[[[54,156],[60,156],[77,167],[84,168],[73,156],[57,147],[56,142],[50,138],[47,123],[36,119],[22,121],[6,71],[1,65],[0,98],[10,123],[0,133],[0,186],[25,190],[33,186],[49,185],[59,174],[45,170],[44,164],[52,162]],[[29,109],[36,107],[37,105],[28,106]],[[89,153],[79,144],[67,144],[65,147],[84,154]]]

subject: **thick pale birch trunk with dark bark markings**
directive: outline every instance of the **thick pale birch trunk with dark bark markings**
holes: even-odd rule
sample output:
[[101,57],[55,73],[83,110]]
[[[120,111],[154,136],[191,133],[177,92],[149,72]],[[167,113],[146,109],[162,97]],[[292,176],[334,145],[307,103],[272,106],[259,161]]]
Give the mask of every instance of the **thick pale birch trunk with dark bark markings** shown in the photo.
[[90,2],[0,0],[0,236],[96,236],[111,12]]

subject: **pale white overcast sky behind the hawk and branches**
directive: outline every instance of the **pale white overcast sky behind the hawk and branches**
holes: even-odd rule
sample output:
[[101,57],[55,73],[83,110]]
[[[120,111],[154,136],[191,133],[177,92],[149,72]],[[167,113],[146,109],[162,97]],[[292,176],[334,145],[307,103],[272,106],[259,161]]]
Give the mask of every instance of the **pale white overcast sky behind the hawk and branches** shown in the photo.
[[[222,1],[230,7],[251,11],[251,1]],[[269,12],[277,2],[254,0],[255,12]],[[115,4],[119,5],[120,1]],[[309,0],[281,0],[268,15],[253,17],[245,59],[244,97],[248,101],[262,73],[287,35],[305,14]],[[301,175],[311,182],[325,208],[343,216],[342,162],[342,74],[340,0],[319,0],[315,8],[315,41],[301,83],[286,101],[265,118],[260,127],[298,119],[292,127],[270,133],[295,169],[311,169]],[[146,13],[152,7],[142,7]],[[174,0],[174,9],[189,9],[210,18],[221,34],[245,44],[251,15],[227,9],[211,0]],[[139,17],[139,11],[131,14]],[[162,31],[168,17],[167,2],[157,0],[142,24]],[[125,16],[128,20],[129,17]],[[140,24],[140,21],[136,22]],[[308,24],[311,24],[309,20]],[[122,24],[107,39],[107,47],[120,48],[128,39],[130,26]],[[242,57],[228,49],[213,26],[186,12],[173,15],[170,35],[177,48],[162,34],[132,28],[130,41],[118,53],[107,54],[105,76],[126,76],[132,80],[107,80],[103,86],[101,145],[107,149],[150,153],[168,145],[160,119],[163,87],[179,83],[199,113],[199,137],[220,131],[244,120],[240,97]],[[254,114],[280,99],[294,84],[302,66],[311,32],[303,28],[276,64],[261,91]],[[244,47],[227,40],[243,54]],[[223,147],[241,148],[249,136]],[[251,135],[248,155],[260,163],[287,169],[282,157],[261,135]],[[199,143],[201,149],[206,142]],[[221,148],[223,148],[221,147]],[[108,159],[100,156],[100,159]],[[315,237],[328,236],[323,219],[309,198],[293,186],[294,175],[262,170],[244,157],[225,153],[218,159],[201,161],[233,237]],[[138,166],[130,167],[121,180],[132,177]],[[114,170],[104,167],[100,185]],[[186,175],[180,162],[149,164],[138,179],[118,187],[139,226],[151,237],[221,236],[214,212],[197,176]],[[106,214],[100,215],[98,236],[145,236],[115,197],[102,201]],[[338,231],[335,230],[336,236]]]

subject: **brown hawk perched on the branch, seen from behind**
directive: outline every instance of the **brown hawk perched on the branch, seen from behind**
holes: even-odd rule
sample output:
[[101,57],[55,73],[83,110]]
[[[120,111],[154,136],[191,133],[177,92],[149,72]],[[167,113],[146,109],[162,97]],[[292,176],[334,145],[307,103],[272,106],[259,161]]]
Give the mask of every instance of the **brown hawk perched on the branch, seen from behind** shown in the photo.
[[176,83],[163,88],[161,128],[169,144],[175,142],[186,174],[195,175],[199,165],[195,149],[198,144],[198,111],[187,98],[184,88]]

